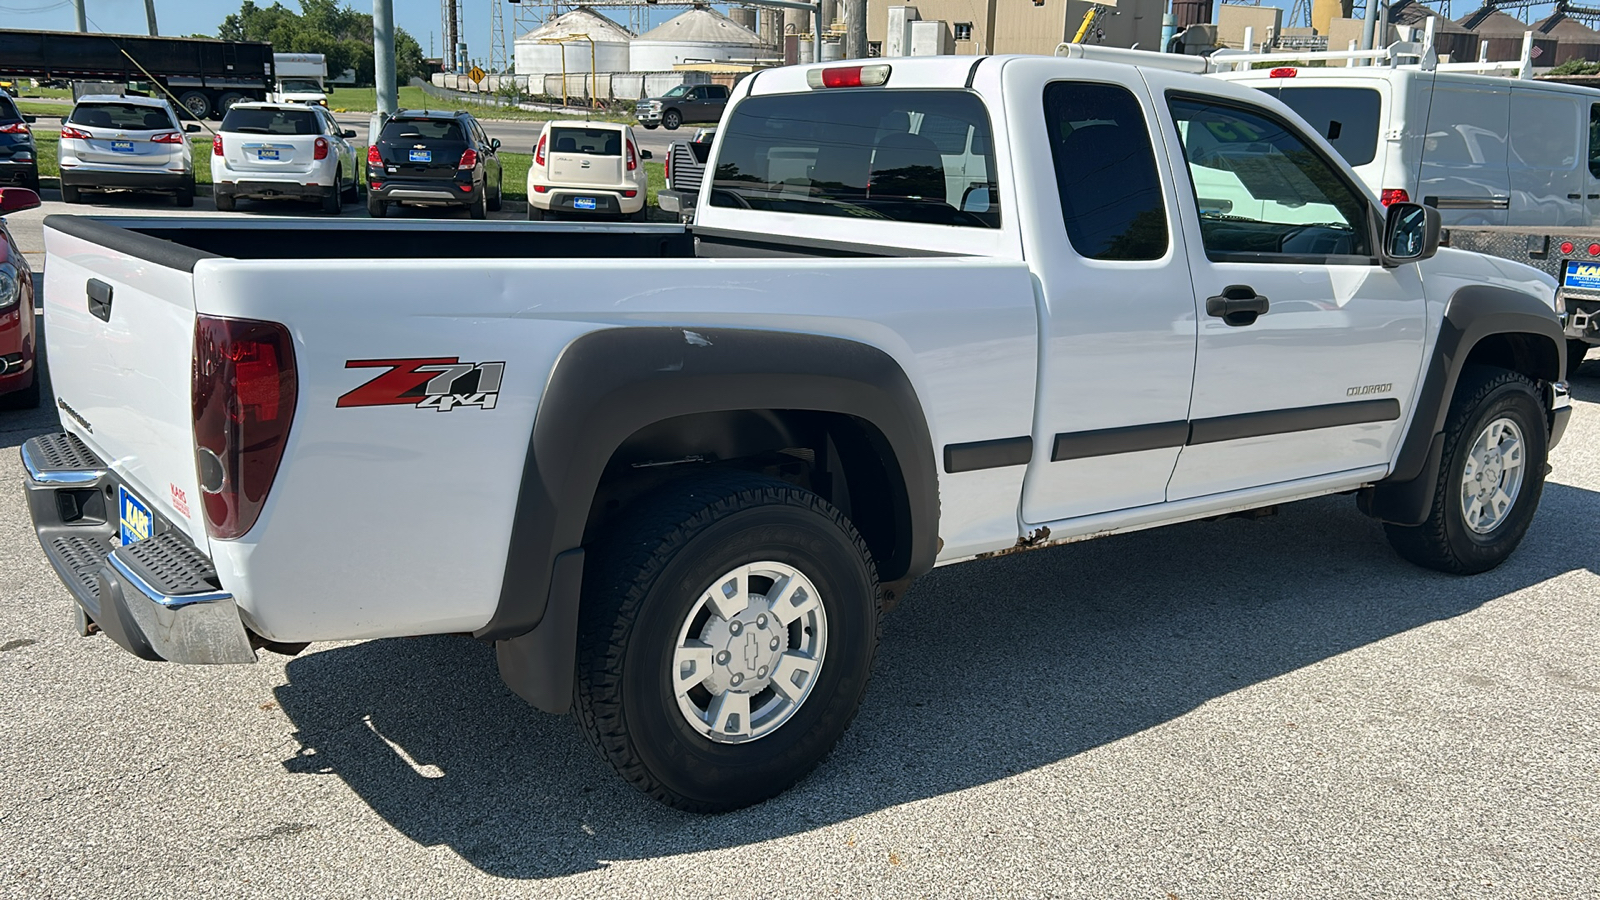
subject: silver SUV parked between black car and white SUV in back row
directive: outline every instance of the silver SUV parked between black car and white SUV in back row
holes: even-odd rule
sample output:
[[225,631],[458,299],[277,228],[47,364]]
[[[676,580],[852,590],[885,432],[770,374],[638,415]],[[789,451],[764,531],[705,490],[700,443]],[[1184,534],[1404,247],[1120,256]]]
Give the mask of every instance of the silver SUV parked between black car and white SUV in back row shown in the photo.
[[83,191],[155,191],[195,205],[195,163],[187,133],[165,99],[88,94],[61,123],[61,199]]

